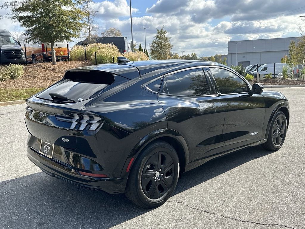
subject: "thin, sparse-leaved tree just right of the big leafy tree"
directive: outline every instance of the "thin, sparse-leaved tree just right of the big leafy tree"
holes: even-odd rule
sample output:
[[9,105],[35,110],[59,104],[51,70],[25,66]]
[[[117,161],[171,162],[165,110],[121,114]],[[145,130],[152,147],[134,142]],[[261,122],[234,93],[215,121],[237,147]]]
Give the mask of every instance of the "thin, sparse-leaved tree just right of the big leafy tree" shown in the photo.
[[94,20],[97,10],[92,8],[92,3],[92,0],[81,0],[80,2],[81,11],[84,13],[84,17],[81,20],[84,23],[84,27],[81,30],[81,37],[88,38],[90,42],[96,37],[99,31],[99,26]]

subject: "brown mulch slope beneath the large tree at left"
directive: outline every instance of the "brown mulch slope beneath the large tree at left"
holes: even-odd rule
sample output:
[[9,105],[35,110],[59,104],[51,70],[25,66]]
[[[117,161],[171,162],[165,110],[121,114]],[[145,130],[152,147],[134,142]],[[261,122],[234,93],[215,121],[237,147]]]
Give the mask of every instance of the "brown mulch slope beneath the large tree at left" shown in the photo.
[[90,61],[27,64],[24,65],[23,77],[0,82],[0,88],[46,88],[63,78],[66,70],[89,65],[92,65]]

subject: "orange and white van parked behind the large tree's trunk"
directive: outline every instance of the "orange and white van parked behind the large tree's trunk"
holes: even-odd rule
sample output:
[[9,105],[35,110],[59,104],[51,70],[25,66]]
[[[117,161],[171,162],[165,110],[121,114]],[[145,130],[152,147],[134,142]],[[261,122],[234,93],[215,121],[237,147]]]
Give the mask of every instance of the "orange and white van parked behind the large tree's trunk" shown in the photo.
[[[31,43],[25,42],[27,38],[27,34],[24,33],[19,36],[18,41],[20,42],[21,46],[26,47],[27,52],[27,62],[33,62],[36,64],[37,62],[41,61],[52,61],[52,50],[51,44],[46,42],[39,42],[39,43]],[[67,60],[68,59],[68,50],[67,42],[54,42],[54,49],[56,60]],[[70,54],[69,54],[70,55]]]

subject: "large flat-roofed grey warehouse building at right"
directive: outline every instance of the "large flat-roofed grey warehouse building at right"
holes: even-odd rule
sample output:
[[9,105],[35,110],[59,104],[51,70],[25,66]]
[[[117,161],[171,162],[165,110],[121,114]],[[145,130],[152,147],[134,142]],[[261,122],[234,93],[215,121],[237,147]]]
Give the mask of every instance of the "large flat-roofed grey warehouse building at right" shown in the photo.
[[281,63],[283,56],[289,53],[291,41],[297,43],[298,37],[273,38],[246,41],[228,42],[228,66],[236,66],[236,46],[237,64],[244,67],[252,64],[273,64]]

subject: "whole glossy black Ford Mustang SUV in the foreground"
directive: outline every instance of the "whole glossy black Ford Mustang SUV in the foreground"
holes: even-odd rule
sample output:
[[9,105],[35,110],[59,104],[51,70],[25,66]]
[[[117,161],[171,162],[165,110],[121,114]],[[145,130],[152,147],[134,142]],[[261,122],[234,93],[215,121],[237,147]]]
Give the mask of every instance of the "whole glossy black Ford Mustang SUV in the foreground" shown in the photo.
[[282,93],[209,61],[120,62],[68,70],[26,100],[27,156],[43,172],[153,208],[181,173],[246,147],[282,147]]

